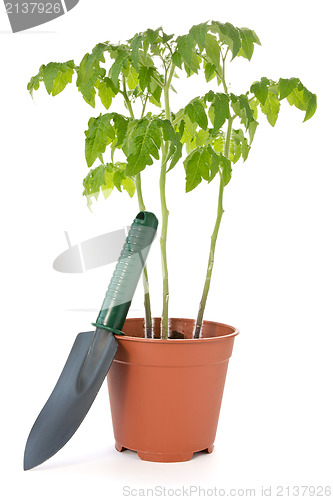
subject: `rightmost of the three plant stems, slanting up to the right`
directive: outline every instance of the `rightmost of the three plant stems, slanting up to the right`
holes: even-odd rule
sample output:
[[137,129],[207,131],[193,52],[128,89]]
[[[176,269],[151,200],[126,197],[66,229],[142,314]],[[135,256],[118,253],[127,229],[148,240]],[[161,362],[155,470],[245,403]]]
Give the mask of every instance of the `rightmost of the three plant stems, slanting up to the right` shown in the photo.
[[[222,57],[222,83],[223,83],[223,88],[226,94],[228,94],[228,88],[225,82],[225,59],[226,59],[225,54],[224,57]],[[226,141],[225,141],[225,147],[224,147],[224,156],[226,158],[229,158],[229,151],[230,151],[230,141],[231,141],[231,131],[232,131],[232,122],[234,120],[234,117],[230,116],[228,119],[228,129],[227,129],[227,136],[226,136]],[[210,243],[210,249],[209,249],[209,258],[208,258],[208,265],[207,265],[207,272],[206,272],[206,278],[205,278],[205,284],[204,288],[202,291],[202,296],[201,296],[201,301],[199,305],[199,311],[194,327],[194,332],[193,332],[193,338],[198,339],[201,334],[201,329],[202,329],[202,322],[203,322],[203,315],[206,307],[206,302],[207,302],[207,297],[208,297],[208,292],[210,289],[210,283],[211,283],[211,278],[212,278],[212,272],[213,272],[213,267],[214,267],[214,257],[215,257],[215,248],[216,248],[216,241],[217,241],[217,236],[219,233],[220,225],[221,225],[221,220],[222,220],[222,215],[223,215],[223,191],[224,191],[224,180],[223,180],[223,171],[219,172],[220,174],[220,187],[219,187],[219,195],[218,195],[218,202],[217,202],[217,214],[216,214],[216,220],[215,220],[215,225],[214,225],[214,230],[211,236],[211,243]]]

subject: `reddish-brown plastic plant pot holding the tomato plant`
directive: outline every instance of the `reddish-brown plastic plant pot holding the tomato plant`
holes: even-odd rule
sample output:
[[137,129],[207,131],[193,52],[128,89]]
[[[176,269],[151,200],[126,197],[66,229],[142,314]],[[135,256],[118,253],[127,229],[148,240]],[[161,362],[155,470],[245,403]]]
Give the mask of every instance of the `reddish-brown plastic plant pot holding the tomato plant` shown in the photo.
[[213,451],[222,394],[236,328],[204,321],[192,339],[194,320],[170,319],[184,339],[144,338],[143,318],[127,319],[108,373],[115,446],[142,460],[184,462]]

